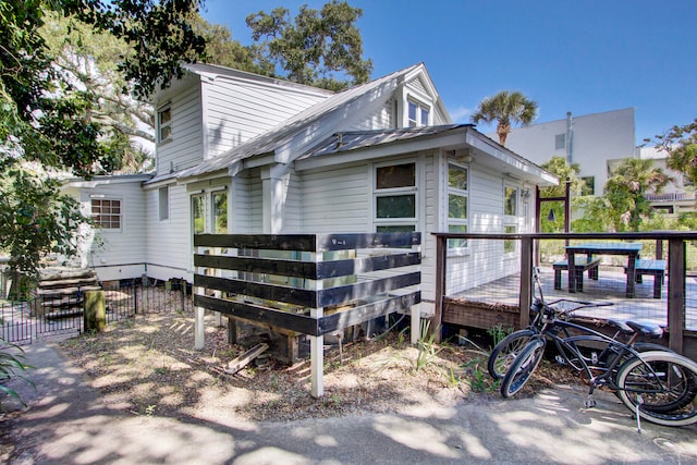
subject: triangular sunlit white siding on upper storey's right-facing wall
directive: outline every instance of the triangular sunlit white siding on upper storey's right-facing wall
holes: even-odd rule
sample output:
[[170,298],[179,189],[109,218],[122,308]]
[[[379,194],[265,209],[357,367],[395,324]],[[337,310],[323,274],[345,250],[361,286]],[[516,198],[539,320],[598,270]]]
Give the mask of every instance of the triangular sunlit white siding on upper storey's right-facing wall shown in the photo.
[[289,120],[327,96],[260,83],[203,83],[208,151],[212,158]]

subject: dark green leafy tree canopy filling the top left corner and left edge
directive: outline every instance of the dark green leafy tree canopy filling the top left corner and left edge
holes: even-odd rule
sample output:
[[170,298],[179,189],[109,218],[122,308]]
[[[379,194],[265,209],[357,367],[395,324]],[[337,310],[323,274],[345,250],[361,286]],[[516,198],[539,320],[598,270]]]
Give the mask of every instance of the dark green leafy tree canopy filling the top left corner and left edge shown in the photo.
[[41,34],[47,14],[75,17],[123,40],[123,82],[145,97],[204,51],[186,16],[197,0],[10,0],[0,2],[0,249],[10,265],[35,274],[41,257],[70,255],[84,220],[60,194],[58,174],[89,179],[113,171],[114,148],[91,118],[97,96],[56,66]]

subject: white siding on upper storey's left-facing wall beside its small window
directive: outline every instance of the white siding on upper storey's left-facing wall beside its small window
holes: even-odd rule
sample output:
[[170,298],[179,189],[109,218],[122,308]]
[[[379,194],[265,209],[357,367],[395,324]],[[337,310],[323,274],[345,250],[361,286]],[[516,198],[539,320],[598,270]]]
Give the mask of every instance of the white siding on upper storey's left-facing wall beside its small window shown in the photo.
[[158,174],[166,174],[171,170],[181,171],[203,160],[198,82],[195,81],[169,101],[172,110],[172,136],[169,140],[157,145]]

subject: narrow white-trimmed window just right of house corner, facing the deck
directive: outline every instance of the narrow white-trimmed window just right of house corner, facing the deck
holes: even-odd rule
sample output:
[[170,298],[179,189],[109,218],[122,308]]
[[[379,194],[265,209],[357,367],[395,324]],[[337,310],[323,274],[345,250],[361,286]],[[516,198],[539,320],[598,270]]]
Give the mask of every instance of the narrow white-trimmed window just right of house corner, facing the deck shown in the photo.
[[[469,231],[469,170],[448,163],[448,232],[466,233]],[[467,240],[451,238],[448,249],[457,252],[467,247]]]

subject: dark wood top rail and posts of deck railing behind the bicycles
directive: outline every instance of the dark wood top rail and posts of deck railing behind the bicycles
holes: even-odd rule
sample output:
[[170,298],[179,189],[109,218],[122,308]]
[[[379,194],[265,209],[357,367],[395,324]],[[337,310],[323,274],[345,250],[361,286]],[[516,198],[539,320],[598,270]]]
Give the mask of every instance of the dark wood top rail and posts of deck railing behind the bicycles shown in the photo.
[[[685,328],[686,316],[686,243],[697,241],[697,233],[689,232],[647,232],[647,233],[560,233],[560,234],[455,234],[433,233],[437,240],[436,265],[436,309],[433,320],[436,328],[448,321],[444,311],[448,311],[447,282],[448,282],[448,240],[484,240],[484,241],[519,241],[519,297],[517,302],[518,318],[516,328],[524,328],[529,322],[529,313],[519,311],[521,308],[529,308],[533,299],[533,265],[539,260],[540,241],[657,241],[657,252],[662,254],[662,243],[668,242],[668,345],[682,354],[697,358],[697,333]],[[660,257],[659,257],[660,258]],[[690,297],[692,298],[692,297]]]

